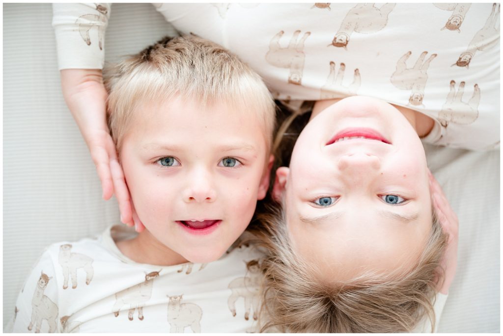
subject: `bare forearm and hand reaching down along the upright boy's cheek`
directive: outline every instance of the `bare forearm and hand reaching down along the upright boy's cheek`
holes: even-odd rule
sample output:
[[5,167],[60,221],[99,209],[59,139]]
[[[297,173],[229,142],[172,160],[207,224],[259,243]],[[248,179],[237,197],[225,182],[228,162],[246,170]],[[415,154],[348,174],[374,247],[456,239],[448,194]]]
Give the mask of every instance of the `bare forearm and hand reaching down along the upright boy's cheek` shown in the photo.
[[103,85],[101,70],[63,69],[61,87],[65,102],[96,165],[103,199],[110,199],[115,190],[121,221],[128,226],[135,225],[136,230],[141,232],[144,227],[132,207],[124,173],[106,122],[108,93]]

